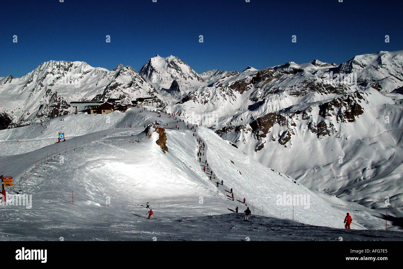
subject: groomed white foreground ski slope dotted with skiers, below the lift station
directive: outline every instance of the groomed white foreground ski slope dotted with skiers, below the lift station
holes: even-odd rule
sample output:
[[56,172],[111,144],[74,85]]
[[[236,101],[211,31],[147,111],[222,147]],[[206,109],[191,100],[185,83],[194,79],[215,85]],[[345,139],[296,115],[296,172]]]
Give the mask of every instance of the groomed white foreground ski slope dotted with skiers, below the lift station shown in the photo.
[[[151,240],[156,236],[163,240],[241,240],[241,236],[249,233],[256,236],[263,229],[258,227],[270,229],[272,225],[282,228],[274,232],[276,235],[270,231],[256,239],[268,240],[271,236],[293,240],[292,236],[280,235],[281,229],[311,227],[323,233],[312,236],[295,231],[300,234],[299,240],[330,240],[334,233],[346,232],[338,230],[343,228],[346,212],[357,224],[352,225],[354,229],[384,228],[384,220],[376,211],[312,192],[286,175],[247,158],[210,129],[195,127],[193,132],[187,129],[187,124],[178,122],[183,118],[175,119],[165,113],[158,117],[158,113],[152,112],[156,108],[145,108],[148,110],[131,108],[126,113],[108,115],[66,115],[46,121],[44,124],[50,127],[43,133],[40,124],[3,130],[1,137],[6,141],[12,138],[7,131],[25,133],[26,138],[29,134],[30,140],[19,144],[15,152],[10,147],[10,155],[0,156],[0,163],[2,174],[14,177],[15,191],[21,189],[21,194],[32,194],[32,208],[2,206],[0,238]],[[156,144],[158,133],[152,132],[148,137],[143,132],[144,124],[155,120],[162,121],[166,129],[165,154]],[[61,128],[68,137],[66,142],[48,141],[52,136],[56,141],[55,133]],[[202,170],[197,157],[198,137],[206,144],[204,156],[216,180],[224,181],[223,186],[217,188]],[[45,142],[35,146],[36,140]],[[1,145],[4,143],[10,141]],[[32,147],[35,149],[31,150]],[[18,154],[19,151],[24,153]],[[12,187],[6,188],[8,194],[13,193]],[[229,188],[234,190],[235,202],[228,199]],[[309,195],[309,208],[278,205],[276,196],[284,192]],[[243,213],[246,205],[237,201],[243,197],[253,211],[250,219],[253,229],[248,228],[249,223],[241,222],[242,214],[229,211],[239,206],[239,212]],[[150,202],[154,211],[150,220],[142,218],[147,216],[148,210],[141,206],[146,202]],[[220,231],[229,223],[233,223],[233,231],[220,237]],[[197,225],[200,228],[195,232]],[[396,229],[391,224],[389,227]],[[334,233],[324,235],[329,229]],[[377,232],[369,234],[377,238]],[[390,231],[383,238],[399,236],[401,233]],[[360,238],[360,234],[354,238]]]

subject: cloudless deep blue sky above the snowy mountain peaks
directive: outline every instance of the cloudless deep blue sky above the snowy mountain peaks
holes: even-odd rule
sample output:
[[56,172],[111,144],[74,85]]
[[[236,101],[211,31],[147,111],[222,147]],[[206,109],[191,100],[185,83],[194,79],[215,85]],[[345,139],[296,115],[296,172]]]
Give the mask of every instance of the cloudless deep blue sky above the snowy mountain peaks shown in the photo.
[[197,73],[314,58],[339,64],[402,50],[402,7],[401,0],[6,0],[0,77],[21,77],[48,60],[139,71],[156,54],[178,56]]

